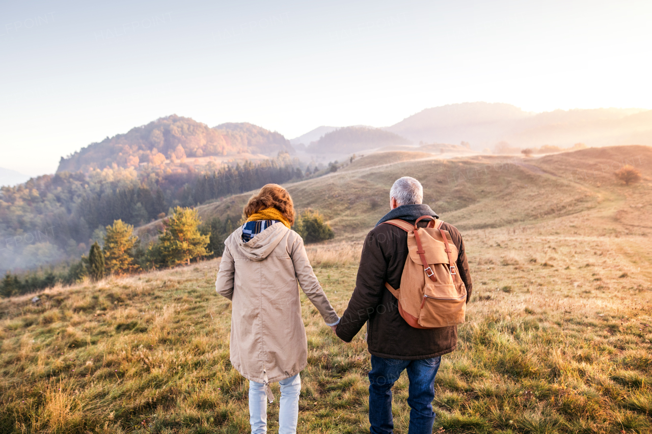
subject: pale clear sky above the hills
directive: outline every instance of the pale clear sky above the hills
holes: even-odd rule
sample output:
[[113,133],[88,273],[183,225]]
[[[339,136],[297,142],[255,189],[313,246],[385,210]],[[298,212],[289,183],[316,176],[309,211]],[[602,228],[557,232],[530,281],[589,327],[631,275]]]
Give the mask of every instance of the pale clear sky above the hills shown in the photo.
[[176,113],[288,138],[424,108],[652,108],[652,1],[4,1],[0,167]]

